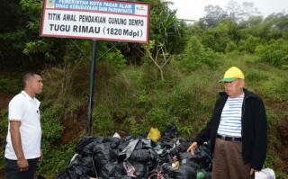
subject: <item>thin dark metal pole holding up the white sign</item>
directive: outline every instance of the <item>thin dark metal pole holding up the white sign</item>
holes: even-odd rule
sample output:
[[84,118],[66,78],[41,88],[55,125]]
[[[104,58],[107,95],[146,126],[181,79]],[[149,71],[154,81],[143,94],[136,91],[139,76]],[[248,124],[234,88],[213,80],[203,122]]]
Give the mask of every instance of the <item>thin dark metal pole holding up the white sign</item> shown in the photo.
[[92,114],[94,106],[94,69],[96,62],[97,41],[93,40],[92,57],[90,58],[89,100],[87,107],[86,135],[91,136]]

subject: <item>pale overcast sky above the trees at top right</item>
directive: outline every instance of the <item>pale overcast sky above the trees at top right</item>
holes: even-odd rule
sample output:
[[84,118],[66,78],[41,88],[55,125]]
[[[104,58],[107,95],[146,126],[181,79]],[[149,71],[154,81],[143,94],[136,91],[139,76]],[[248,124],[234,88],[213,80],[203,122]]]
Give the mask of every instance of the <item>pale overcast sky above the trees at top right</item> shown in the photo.
[[[177,9],[177,17],[198,20],[204,15],[204,7],[218,4],[225,9],[229,0],[169,0],[174,3],[171,9]],[[288,0],[236,0],[238,4],[253,2],[258,11],[267,16],[271,13],[288,13]]]

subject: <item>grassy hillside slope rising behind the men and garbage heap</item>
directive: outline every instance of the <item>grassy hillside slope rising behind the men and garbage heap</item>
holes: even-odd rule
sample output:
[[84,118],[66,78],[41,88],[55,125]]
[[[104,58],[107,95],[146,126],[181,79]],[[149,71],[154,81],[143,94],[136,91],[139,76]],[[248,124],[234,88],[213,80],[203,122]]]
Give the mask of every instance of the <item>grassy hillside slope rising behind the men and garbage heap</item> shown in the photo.
[[[172,61],[164,71],[164,81],[151,65],[119,70],[100,63],[95,74],[93,135],[110,136],[114,131],[139,135],[150,127],[163,130],[167,124],[175,123],[182,136],[193,138],[209,120],[217,93],[222,89],[218,80],[230,66],[243,69],[247,88],[264,99],[269,125],[266,166],[275,169],[277,178],[287,178],[288,88],[284,76],[288,76],[288,72],[257,63],[253,56],[222,55],[217,66],[202,66],[189,72],[183,70],[178,61]],[[43,71],[45,90],[40,100],[46,160],[40,173],[48,178],[67,166],[77,139],[85,135],[88,80],[87,74],[79,73],[85,71],[85,67],[77,67],[73,75],[62,71],[60,76],[53,73],[52,68]],[[2,111],[11,97],[0,92]],[[5,118],[4,112],[1,142],[5,136],[2,133],[6,129]]]

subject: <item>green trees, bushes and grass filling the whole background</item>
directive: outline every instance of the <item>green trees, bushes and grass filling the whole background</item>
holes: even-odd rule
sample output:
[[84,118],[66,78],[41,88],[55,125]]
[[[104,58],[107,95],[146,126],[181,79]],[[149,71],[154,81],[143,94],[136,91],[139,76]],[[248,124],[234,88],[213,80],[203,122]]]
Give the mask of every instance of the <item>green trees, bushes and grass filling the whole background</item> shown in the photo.
[[[266,166],[275,169],[277,178],[288,178],[279,155],[283,143],[276,135],[288,113],[268,105],[288,105],[288,15],[263,17],[251,3],[230,1],[227,9],[207,6],[205,16],[190,24],[176,18],[169,2],[139,2],[150,4],[148,44],[98,41],[93,135],[142,135],[151,127],[164,130],[172,124],[182,136],[193,138],[210,119],[223,72],[237,66],[245,72],[247,88],[266,103]],[[85,135],[81,112],[88,99],[92,41],[41,38],[40,0],[4,0],[0,10],[0,92],[17,94],[24,71],[41,72],[45,160],[40,173],[53,178]],[[6,116],[1,109],[1,141]],[[83,128],[63,142],[70,125]]]

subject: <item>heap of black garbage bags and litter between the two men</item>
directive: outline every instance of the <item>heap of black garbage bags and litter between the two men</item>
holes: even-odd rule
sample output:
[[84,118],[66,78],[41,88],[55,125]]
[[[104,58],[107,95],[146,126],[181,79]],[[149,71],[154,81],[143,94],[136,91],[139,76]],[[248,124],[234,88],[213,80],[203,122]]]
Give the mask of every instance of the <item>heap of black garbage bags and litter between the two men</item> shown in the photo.
[[58,179],[209,179],[208,144],[195,155],[186,152],[192,143],[178,137],[174,126],[161,139],[147,136],[85,137],[76,145],[76,156]]

